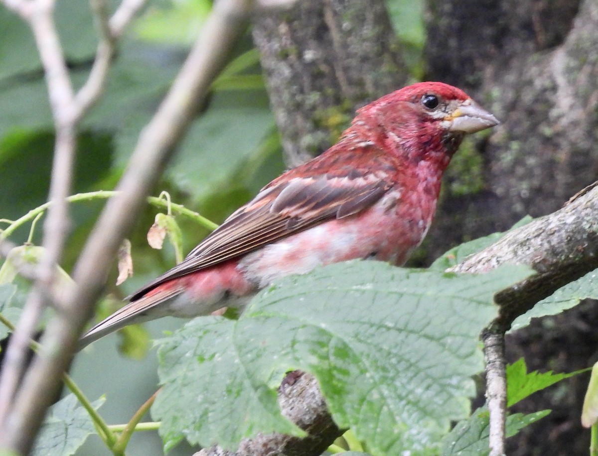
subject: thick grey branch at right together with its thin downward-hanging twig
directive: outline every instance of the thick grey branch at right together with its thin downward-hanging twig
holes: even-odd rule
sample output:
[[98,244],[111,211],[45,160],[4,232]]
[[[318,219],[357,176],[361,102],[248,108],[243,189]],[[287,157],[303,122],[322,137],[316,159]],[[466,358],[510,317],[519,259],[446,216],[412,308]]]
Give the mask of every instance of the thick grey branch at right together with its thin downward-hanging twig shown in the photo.
[[486,353],[491,455],[504,454],[505,448],[505,332],[536,302],[598,267],[598,183],[579,192],[557,212],[509,232],[450,270],[484,273],[502,264],[529,265],[537,274],[495,296],[499,316],[481,335]]

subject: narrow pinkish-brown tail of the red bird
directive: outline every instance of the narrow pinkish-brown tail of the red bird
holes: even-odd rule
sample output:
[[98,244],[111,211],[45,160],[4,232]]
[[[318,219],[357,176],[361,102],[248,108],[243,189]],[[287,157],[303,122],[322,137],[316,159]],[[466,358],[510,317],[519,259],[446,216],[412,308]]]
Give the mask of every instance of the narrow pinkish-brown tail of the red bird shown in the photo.
[[111,314],[105,320],[97,323],[96,326],[91,328],[87,333],[80,339],[78,350],[81,350],[91,342],[97,341],[97,339],[114,332],[117,329],[124,328],[124,326],[131,325],[132,323],[143,323],[149,320],[157,319],[163,316],[159,312],[152,312],[157,305],[164,301],[167,301],[173,296],[178,295],[182,292],[181,288],[155,288],[147,295],[136,299],[133,302],[117,310]]

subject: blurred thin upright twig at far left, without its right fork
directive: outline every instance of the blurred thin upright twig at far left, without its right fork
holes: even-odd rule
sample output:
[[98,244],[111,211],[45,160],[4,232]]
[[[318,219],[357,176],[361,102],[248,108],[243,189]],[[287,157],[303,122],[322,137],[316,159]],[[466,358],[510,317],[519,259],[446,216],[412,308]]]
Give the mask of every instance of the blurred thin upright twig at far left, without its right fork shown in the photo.
[[[54,1],[37,0],[28,17],[39,50],[56,126],[54,160],[50,180],[49,200],[53,201],[44,223],[44,255],[36,270],[36,280],[29,293],[22,317],[17,323],[5,355],[0,375],[0,426],[7,420],[17,385],[26,369],[29,340],[45,307],[51,303],[48,290],[54,280],[56,265],[62,255],[68,231],[68,203],[71,191],[72,167],[75,155],[75,129],[71,106],[73,91],[65,58],[53,20]],[[0,435],[0,442],[4,436]]]

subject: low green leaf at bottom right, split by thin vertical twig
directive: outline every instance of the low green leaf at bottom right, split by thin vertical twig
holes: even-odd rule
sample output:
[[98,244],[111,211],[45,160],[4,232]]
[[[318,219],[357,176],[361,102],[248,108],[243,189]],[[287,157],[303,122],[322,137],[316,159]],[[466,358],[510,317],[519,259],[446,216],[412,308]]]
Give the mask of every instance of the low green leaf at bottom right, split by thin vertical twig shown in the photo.
[[[524,415],[516,413],[507,417],[507,437],[550,414],[542,410]],[[485,456],[489,451],[489,412],[487,407],[478,408],[468,420],[460,421],[442,441],[443,456]]]

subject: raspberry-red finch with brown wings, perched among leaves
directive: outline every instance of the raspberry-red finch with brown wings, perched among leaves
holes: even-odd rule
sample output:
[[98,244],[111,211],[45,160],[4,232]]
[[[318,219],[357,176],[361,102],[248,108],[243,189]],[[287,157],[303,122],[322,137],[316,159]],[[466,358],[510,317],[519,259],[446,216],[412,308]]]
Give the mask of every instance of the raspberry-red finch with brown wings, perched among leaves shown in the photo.
[[498,120],[441,82],[359,109],[334,146],[266,185],[81,339],[163,316],[238,307],[271,281],[354,258],[402,265],[426,235],[444,170],[466,133]]

